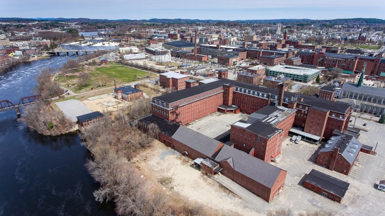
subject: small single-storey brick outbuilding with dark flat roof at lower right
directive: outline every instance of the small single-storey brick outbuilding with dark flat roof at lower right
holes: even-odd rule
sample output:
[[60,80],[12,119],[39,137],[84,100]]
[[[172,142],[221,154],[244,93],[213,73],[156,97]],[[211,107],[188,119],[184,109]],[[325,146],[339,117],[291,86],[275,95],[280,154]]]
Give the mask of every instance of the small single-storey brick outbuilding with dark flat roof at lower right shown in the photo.
[[341,203],[349,183],[336,179],[333,176],[322,173],[315,169],[306,175],[304,186],[309,190],[323,195],[323,197]]

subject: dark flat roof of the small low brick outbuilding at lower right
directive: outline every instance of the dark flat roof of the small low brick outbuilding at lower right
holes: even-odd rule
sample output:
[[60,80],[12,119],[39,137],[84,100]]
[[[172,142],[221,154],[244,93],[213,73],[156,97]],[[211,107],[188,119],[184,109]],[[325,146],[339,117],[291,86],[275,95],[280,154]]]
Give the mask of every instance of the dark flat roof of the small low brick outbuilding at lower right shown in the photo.
[[343,197],[349,188],[349,183],[334,178],[328,174],[322,173],[315,169],[306,175],[305,182],[309,182],[324,190],[332,192],[339,197]]

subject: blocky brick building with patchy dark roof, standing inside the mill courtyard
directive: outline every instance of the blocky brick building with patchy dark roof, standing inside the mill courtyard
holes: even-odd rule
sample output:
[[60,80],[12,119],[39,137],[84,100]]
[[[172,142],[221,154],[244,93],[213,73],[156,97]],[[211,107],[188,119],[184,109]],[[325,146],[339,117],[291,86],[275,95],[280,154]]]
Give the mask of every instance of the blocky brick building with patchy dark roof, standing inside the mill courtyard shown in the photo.
[[282,141],[293,127],[295,109],[266,106],[231,125],[234,147],[270,162],[281,153]]

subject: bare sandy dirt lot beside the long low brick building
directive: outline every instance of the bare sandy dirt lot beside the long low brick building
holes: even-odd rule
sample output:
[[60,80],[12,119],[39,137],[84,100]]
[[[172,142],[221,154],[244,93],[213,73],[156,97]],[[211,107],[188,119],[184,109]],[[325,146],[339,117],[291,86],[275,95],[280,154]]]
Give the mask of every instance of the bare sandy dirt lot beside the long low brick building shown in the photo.
[[139,154],[131,163],[137,165],[144,178],[163,185],[169,193],[179,193],[189,200],[216,209],[232,210],[243,215],[263,215],[246,208],[243,200],[193,168],[194,162],[159,141],[155,141],[150,149]]

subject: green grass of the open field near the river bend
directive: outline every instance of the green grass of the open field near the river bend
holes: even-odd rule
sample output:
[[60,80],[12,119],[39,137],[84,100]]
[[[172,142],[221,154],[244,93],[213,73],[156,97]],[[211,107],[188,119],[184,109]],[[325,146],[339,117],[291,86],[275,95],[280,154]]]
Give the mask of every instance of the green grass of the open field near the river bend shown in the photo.
[[124,67],[119,64],[107,64],[106,66],[96,68],[96,72],[102,73],[108,77],[116,78],[118,83],[129,83],[137,81],[136,77],[147,76],[147,72]]

